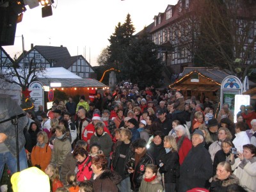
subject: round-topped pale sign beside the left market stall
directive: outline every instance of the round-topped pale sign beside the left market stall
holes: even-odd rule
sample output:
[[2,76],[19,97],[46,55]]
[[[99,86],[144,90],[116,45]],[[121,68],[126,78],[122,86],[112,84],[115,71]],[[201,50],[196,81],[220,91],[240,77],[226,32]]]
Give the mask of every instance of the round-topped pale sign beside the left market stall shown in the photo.
[[39,81],[33,81],[29,85],[30,97],[35,100],[35,111],[38,111],[38,106],[44,106],[44,89],[43,85]]

